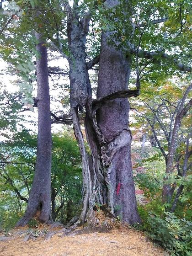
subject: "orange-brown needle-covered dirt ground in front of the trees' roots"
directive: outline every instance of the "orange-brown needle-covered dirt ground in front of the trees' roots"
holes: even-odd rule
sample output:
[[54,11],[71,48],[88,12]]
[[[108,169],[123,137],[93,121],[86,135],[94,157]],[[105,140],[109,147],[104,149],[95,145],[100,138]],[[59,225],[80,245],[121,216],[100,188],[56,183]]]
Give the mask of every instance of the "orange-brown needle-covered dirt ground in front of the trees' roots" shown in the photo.
[[50,240],[23,241],[23,237],[0,242],[0,256],[164,256],[161,248],[133,229],[113,229]]

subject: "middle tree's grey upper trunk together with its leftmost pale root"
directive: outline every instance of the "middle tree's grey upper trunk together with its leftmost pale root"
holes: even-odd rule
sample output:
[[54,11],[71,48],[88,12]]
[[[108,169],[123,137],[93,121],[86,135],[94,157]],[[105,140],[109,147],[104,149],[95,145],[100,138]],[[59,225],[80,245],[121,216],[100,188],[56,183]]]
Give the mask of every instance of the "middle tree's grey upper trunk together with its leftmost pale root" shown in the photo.
[[[83,174],[83,208],[80,221],[85,222],[91,216],[95,203],[94,186],[92,186],[91,170],[89,158],[85,148],[83,134],[80,128],[80,120],[78,109],[81,111],[83,107],[89,105],[91,101],[91,84],[86,65],[86,35],[89,28],[89,16],[79,20],[74,3],[73,10],[68,16],[68,42],[69,42],[69,79],[70,79],[70,107],[73,117],[74,133],[79,144],[80,154],[82,158],[82,174]],[[91,167],[92,169],[92,167]]]

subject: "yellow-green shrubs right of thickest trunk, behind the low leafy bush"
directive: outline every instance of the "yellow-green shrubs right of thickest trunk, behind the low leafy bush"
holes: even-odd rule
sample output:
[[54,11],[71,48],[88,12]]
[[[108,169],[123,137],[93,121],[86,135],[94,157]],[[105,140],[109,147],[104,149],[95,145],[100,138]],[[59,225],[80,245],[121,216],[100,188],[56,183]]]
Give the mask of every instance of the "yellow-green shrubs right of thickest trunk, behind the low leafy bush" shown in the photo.
[[[144,191],[144,197],[147,199],[145,203],[146,211],[154,211],[157,214],[162,214],[165,211],[165,206],[171,209],[171,206],[176,197],[176,192],[180,186],[184,186],[182,193],[178,199],[175,214],[179,218],[191,219],[192,216],[192,175],[188,174],[186,177],[178,176],[176,172],[173,172],[167,176],[167,180],[163,181],[165,175],[165,160],[154,160],[151,161],[152,157],[141,160],[143,171],[137,173],[135,176],[135,182],[139,189]],[[161,192],[163,182],[171,184],[175,187],[171,202],[162,205],[161,203]]]

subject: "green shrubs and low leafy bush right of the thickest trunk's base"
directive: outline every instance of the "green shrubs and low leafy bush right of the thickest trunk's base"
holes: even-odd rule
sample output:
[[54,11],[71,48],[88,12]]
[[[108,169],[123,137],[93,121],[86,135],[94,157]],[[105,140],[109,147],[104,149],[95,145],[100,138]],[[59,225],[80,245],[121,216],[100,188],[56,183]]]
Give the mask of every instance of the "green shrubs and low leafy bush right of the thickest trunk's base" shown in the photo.
[[150,239],[163,246],[171,256],[189,256],[192,253],[191,175],[187,177],[170,175],[167,182],[176,186],[173,199],[180,185],[184,185],[184,189],[175,213],[165,213],[165,205],[161,203],[165,161],[151,161],[152,157],[149,158],[150,161],[141,160],[144,171],[135,178],[136,184],[144,191],[144,197],[147,198],[147,202],[138,205],[142,225],[137,228],[145,231]]

